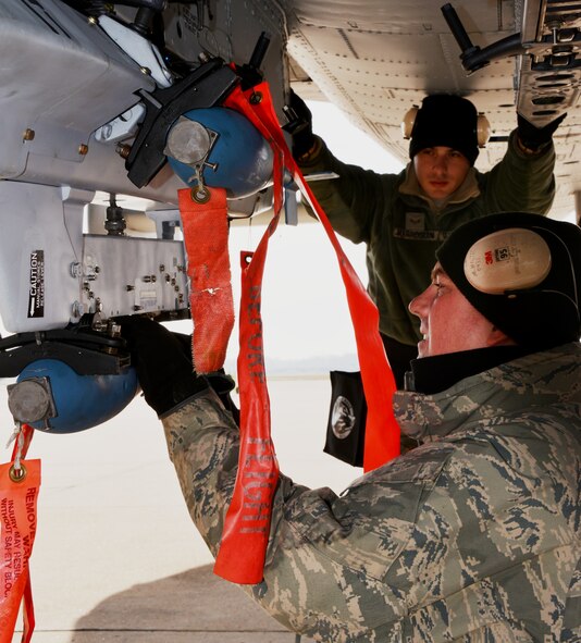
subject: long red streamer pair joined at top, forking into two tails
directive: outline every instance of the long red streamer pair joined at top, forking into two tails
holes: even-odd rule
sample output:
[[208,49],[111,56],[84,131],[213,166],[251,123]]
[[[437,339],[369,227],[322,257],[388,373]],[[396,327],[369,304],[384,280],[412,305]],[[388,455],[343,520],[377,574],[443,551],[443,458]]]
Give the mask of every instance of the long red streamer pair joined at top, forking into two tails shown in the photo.
[[[368,420],[366,470],[399,454],[399,428],[392,410],[395,381],[379,334],[379,312],[345,256],[329,220],[296,165],[279,125],[269,87],[262,83],[243,92],[235,88],[224,104],[245,114],[270,143],[274,152],[275,215],[257,251],[243,260],[240,302],[240,453],[233,499],[226,514],[214,572],[236,583],[262,580],[268,545],[272,497],[279,477],[270,435],[270,404],[265,381],[260,298],[268,239],[276,228],[283,201],[283,170],[293,177],[317,212],[337,255],[354,322]],[[284,164],[283,164],[284,161]],[[250,263],[246,261],[251,259]]]

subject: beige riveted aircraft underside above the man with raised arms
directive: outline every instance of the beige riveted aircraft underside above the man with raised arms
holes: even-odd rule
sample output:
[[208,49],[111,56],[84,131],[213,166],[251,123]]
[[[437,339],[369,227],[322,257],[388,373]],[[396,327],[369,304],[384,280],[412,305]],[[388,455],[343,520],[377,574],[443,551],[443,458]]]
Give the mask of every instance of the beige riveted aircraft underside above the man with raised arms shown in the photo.
[[286,2],[297,92],[330,100],[404,162],[408,141],[400,123],[406,111],[427,94],[466,96],[492,126],[477,161],[482,170],[504,154],[517,110],[539,126],[567,112],[555,135],[557,196],[551,215],[570,217],[577,205],[579,219],[579,4],[458,0],[452,9],[462,49],[443,5],[427,0]]

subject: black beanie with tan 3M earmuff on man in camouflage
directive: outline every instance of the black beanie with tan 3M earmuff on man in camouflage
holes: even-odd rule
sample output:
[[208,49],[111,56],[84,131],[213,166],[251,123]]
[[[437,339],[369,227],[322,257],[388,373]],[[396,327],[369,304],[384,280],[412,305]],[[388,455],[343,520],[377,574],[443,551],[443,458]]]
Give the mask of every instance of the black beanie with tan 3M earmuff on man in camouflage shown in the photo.
[[573,223],[491,214],[456,228],[436,257],[470,304],[518,345],[579,339],[581,228]]

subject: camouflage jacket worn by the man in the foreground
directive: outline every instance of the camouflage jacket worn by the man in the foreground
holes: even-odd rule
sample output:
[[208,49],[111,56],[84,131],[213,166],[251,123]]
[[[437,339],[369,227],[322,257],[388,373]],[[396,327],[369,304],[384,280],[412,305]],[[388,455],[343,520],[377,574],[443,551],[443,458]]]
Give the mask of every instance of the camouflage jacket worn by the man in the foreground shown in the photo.
[[[341,496],[281,475],[264,580],[247,591],[326,643],[581,641],[581,345],[394,401],[421,446]],[[238,431],[211,393],[163,423],[215,555]]]

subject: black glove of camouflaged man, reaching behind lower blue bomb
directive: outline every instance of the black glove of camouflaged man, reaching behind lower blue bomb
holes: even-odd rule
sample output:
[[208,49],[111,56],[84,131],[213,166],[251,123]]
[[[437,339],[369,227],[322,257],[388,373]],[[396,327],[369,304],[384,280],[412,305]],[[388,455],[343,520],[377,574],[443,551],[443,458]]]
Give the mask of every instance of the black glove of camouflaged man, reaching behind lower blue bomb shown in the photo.
[[209,387],[191,364],[191,337],[172,333],[140,316],[123,317],[121,336],[127,343],[132,366],[147,404],[159,417]]

